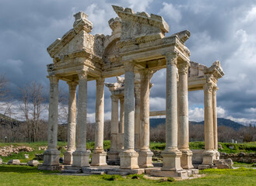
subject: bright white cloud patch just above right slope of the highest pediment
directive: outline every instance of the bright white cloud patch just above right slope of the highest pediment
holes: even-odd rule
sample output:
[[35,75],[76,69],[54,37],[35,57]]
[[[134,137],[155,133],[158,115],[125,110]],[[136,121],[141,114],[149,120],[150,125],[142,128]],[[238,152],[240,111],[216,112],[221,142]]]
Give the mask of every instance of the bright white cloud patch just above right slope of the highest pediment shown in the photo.
[[180,10],[176,9],[171,3],[163,2],[163,8],[160,9],[159,15],[166,15],[168,19],[172,19],[175,22],[180,22],[182,15]]

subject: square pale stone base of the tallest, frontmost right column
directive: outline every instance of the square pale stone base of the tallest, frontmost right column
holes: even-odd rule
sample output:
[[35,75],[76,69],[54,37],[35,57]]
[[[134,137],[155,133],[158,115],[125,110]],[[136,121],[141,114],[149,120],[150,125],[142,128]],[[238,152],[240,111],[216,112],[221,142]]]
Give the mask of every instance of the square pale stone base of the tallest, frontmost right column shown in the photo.
[[162,152],[163,167],[162,171],[181,171],[181,151],[179,150],[164,150]]

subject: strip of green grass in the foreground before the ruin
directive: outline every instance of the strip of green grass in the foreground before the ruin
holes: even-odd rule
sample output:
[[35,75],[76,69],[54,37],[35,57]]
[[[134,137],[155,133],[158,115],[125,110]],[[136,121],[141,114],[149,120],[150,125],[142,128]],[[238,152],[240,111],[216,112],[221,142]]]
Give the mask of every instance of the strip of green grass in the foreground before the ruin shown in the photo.
[[37,167],[0,165],[1,185],[256,185],[256,170],[239,168],[236,170],[209,169],[200,171],[205,177],[187,181],[152,181],[131,179],[111,175],[64,176],[49,171],[38,171]]

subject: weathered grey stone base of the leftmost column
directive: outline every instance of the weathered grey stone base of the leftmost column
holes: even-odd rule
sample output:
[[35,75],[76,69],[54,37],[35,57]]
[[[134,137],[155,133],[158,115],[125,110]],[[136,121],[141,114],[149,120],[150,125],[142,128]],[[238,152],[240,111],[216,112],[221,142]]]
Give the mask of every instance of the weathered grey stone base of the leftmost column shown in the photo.
[[60,154],[58,150],[45,150],[43,166],[58,166]]

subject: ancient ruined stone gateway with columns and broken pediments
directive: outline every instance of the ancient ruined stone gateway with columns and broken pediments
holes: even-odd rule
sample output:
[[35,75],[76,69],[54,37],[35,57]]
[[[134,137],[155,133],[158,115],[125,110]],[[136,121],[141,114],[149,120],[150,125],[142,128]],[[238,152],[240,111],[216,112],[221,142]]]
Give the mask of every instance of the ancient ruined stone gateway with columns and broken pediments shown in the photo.
[[[149,149],[150,79],[163,68],[167,69],[164,111],[167,146],[162,153],[163,167],[155,174],[173,175],[171,172],[193,168],[188,146],[188,91],[205,91],[205,151],[202,164],[212,165],[213,160],[219,158],[216,90],[218,79],[223,77],[219,61],[214,62],[212,67],[191,62],[190,51],[184,45],[190,36],[189,31],[165,36],[169,26],[160,15],[135,13],[132,9],[118,6],[113,6],[113,9],[118,17],[109,21],[111,36],[89,34],[93,23],[85,13],[78,12],[74,15],[73,29],[47,48],[53,64],[47,65],[50,80],[48,146],[40,169],[60,168],[60,152],[57,150],[59,80],[66,81],[69,87],[68,150],[64,154],[64,164],[73,168],[107,165],[107,153],[103,150],[104,79],[121,74],[124,74],[124,79],[119,78],[116,84],[106,84],[112,92],[109,161],[120,160],[120,170],[134,170],[135,173],[136,170],[141,173],[145,168],[153,167],[153,153]],[[87,81],[93,80],[96,81],[96,140],[89,165],[89,152],[86,150]]]

